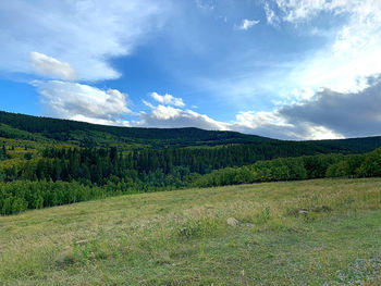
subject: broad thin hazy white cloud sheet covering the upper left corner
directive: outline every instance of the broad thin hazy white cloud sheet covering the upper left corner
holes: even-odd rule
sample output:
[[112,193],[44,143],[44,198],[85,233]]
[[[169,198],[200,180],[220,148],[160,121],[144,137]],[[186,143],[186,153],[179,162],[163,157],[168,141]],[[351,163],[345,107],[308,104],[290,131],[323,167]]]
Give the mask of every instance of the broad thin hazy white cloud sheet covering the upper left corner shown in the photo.
[[[161,24],[165,9],[167,0],[2,2],[0,71],[35,74],[35,62],[27,64],[35,51],[70,64],[78,80],[118,78],[109,60],[131,54]],[[44,61],[40,73],[58,72],[51,59]]]

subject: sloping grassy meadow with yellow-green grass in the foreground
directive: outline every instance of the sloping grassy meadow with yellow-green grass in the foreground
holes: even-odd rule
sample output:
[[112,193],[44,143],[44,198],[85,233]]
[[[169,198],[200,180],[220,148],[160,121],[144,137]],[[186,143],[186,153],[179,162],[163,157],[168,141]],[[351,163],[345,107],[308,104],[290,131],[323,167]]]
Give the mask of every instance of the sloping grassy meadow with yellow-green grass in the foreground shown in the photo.
[[381,179],[187,189],[2,216],[0,285],[381,285]]

